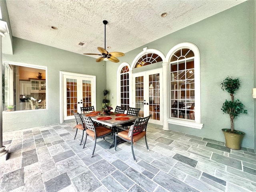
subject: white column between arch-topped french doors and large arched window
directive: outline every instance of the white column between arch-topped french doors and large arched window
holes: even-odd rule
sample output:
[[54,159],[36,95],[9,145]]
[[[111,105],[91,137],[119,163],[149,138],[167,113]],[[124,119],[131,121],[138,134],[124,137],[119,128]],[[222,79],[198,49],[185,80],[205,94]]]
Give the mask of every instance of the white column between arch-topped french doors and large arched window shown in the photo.
[[163,130],[169,130],[169,124],[168,124],[168,114],[169,114],[169,99],[168,99],[168,71],[169,71],[169,63],[163,63],[163,110],[162,110],[162,118],[163,118]]

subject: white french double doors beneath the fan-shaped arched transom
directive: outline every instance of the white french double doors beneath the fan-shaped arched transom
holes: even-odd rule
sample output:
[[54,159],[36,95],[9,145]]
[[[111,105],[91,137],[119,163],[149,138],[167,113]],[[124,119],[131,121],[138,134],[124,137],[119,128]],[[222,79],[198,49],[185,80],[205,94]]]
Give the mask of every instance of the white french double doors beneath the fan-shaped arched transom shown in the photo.
[[152,114],[149,122],[162,125],[162,69],[133,74],[133,98],[140,117]]

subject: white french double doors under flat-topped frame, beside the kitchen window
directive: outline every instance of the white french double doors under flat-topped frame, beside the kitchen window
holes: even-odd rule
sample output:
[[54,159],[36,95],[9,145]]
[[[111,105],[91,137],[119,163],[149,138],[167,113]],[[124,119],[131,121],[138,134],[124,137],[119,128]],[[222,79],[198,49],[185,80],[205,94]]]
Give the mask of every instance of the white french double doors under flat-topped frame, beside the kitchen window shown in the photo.
[[64,120],[74,118],[71,111],[81,113],[80,107],[96,106],[94,77],[64,74],[62,79]]

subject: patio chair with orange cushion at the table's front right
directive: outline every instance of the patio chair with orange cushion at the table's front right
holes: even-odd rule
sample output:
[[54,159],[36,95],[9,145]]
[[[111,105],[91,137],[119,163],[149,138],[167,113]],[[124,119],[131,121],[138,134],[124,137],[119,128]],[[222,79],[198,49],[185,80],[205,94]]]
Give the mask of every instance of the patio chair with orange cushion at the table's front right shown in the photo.
[[116,137],[117,136],[119,138],[121,138],[122,140],[125,140],[125,141],[131,143],[132,156],[133,156],[133,159],[135,162],[137,162],[137,161],[136,161],[134,151],[133,151],[133,144],[135,144],[136,141],[140,140],[142,137],[145,136],[146,146],[149,151],[147,138],[146,138],[146,129],[147,129],[147,125],[148,125],[148,120],[150,119],[151,116],[152,115],[150,114],[150,116],[147,116],[144,118],[137,118],[135,120],[133,126],[130,127],[130,130],[123,129],[123,131],[115,133],[115,138],[114,138],[115,151],[116,151]]

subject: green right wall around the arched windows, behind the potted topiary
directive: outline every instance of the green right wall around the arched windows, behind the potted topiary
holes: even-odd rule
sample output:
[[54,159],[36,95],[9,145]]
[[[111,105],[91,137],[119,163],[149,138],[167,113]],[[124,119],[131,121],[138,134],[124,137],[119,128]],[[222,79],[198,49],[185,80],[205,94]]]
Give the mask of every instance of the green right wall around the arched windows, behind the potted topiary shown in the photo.
[[[110,102],[117,104],[117,69],[122,62],[132,64],[143,48],[154,48],[165,56],[176,44],[191,42],[200,51],[201,78],[201,123],[202,130],[169,124],[170,130],[184,132],[204,138],[223,141],[222,128],[230,128],[228,114],[223,114],[221,107],[230,95],[221,90],[220,82],[227,76],[238,77],[242,81],[235,98],[246,106],[248,114],[242,114],[234,120],[234,128],[246,133],[242,146],[254,148],[254,59],[255,31],[254,1],[246,1],[238,6],[202,20],[196,24],[178,30],[158,40],[127,52],[120,57],[119,63],[107,62],[107,89]],[[130,87],[131,88],[131,87]],[[112,98],[112,93],[114,97]]]

